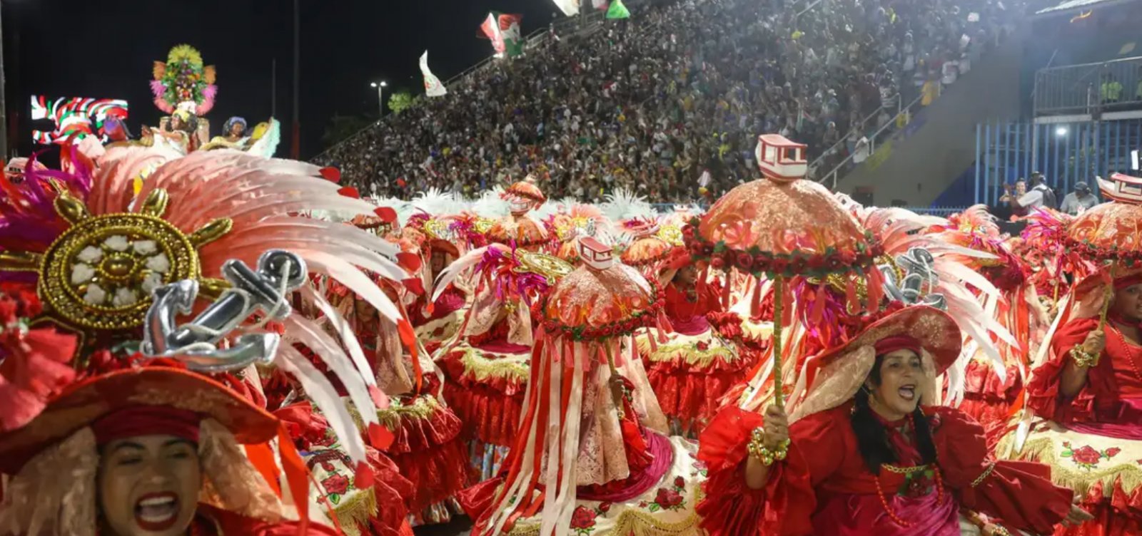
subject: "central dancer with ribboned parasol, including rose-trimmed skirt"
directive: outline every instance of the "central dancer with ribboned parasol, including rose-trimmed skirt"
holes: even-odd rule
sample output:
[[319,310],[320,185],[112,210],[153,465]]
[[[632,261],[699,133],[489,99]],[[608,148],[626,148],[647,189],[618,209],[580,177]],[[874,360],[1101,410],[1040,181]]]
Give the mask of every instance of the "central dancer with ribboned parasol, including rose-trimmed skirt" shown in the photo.
[[667,438],[632,340],[662,328],[662,297],[611,247],[582,238],[582,266],[537,306],[523,419],[501,476],[467,490],[474,534],[697,535],[701,469]]

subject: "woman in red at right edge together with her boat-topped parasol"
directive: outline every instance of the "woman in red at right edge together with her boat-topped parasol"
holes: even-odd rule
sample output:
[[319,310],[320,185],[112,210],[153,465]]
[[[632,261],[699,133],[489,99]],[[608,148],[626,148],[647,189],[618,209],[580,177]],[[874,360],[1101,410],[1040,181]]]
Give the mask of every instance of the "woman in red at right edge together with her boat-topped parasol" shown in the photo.
[[1076,217],[1063,247],[1102,265],[1063,298],[1057,330],[1028,382],[1022,425],[996,452],[1048,464],[1094,520],[1056,535],[1142,533],[1142,179],[1099,179],[1109,203]]

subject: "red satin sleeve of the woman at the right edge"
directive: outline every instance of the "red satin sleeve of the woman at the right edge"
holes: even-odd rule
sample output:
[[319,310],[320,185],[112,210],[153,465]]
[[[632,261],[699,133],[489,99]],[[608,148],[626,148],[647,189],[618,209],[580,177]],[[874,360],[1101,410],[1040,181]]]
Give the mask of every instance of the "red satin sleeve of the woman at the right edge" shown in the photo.
[[1056,422],[1086,421],[1091,417],[1094,408],[1094,393],[1091,389],[1084,388],[1073,399],[1063,400],[1059,387],[1071,348],[1081,344],[1086,334],[1097,325],[1099,322],[1094,318],[1071,320],[1051,339],[1049,359],[1035,368],[1027,384],[1027,405],[1040,417]]

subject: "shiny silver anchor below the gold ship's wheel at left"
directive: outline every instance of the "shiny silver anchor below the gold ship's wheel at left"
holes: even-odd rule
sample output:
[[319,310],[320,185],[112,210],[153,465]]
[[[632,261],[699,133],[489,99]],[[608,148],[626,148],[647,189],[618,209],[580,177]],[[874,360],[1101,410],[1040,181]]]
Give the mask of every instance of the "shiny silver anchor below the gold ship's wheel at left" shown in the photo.
[[178,359],[187,368],[208,373],[273,360],[281,342],[276,333],[244,334],[230,348],[218,348],[218,342],[256,311],[265,312],[267,320],[289,316],[287,295],[305,283],[305,261],[288,251],[270,250],[258,258],[257,271],[231,259],[222,273],[231,287],[187,324],[178,325],[177,316],[191,312],[198,282],[184,279],[154,290],[144,319],[143,355]]

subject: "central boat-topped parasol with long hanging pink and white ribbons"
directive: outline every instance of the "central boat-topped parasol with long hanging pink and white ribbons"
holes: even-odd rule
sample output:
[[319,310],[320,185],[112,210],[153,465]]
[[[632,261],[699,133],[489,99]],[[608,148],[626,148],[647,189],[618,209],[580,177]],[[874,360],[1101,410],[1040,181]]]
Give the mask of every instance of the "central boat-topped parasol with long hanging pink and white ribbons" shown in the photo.
[[[634,268],[612,262],[610,247],[594,238],[581,239],[580,245],[584,265],[536,304],[541,328],[532,349],[523,419],[504,465],[506,477],[489,481],[496,487],[491,501],[483,494],[491,489],[484,487],[476,497],[480,511],[469,511],[478,518],[475,533],[481,535],[508,531],[521,515],[541,519],[540,535],[570,530],[582,481],[577,477],[584,462],[580,442],[596,433],[594,427],[582,429],[584,423],[618,421],[610,428],[621,430],[627,455],[622,462],[628,468],[619,478],[633,477],[640,463],[649,463],[649,444],[661,438],[643,433],[640,420],[650,429],[666,427],[650,387],[632,383],[645,373],[625,372],[641,368],[632,334],[662,322],[658,285]],[[586,393],[602,396],[589,399]]]

